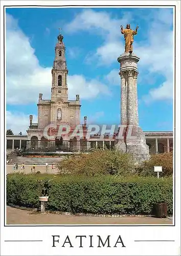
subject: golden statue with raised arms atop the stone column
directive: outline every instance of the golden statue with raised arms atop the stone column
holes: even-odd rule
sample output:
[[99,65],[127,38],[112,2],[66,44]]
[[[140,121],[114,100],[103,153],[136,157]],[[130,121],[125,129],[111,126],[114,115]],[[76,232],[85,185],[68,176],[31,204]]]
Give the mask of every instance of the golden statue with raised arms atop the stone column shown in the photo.
[[132,30],[130,24],[126,25],[126,29],[123,29],[123,26],[121,26],[121,33],[124,35],[125,39],[125,52],[132,53],[133,37],[137,34],[138,28],[137,26],[135,30]]

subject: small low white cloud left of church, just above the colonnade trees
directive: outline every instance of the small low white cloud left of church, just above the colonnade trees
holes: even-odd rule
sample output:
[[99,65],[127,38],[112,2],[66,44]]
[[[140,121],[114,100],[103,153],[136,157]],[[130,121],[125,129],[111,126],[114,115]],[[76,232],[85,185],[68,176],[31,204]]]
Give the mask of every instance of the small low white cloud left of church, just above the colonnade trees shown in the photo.
[[[33,123],[37,122],[37,116],[33,115]],[[22,135],[27,135],[27,129],[30,124],[29,115],[22,112],[11,112],[6,111],[6,129],[11,129],[13,133]]]

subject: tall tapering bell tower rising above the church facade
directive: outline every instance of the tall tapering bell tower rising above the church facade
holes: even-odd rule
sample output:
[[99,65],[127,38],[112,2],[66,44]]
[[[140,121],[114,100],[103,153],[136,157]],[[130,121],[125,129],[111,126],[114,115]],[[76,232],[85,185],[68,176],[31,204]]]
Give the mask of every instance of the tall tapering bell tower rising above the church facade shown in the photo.
[[58,42],[55,46],[55,59],[52,69],[52,90],[51,101],[62,99],[64,102],[68,100],[67,74],[65,59],[65,46],[63,36],[57,36]]

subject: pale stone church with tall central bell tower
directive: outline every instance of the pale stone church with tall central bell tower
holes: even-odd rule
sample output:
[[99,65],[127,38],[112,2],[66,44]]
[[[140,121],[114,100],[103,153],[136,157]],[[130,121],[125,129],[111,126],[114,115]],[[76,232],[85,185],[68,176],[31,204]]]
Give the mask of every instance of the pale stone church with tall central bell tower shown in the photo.
[[[55,59],[52,69],[51,99],[43,99],[39,94],[38,100],[38,123],[33,123],[33,116],[30,115],[30,126],[27,130],[28,140],[46,140],[43,138],[44,128],[51,124],[70,125],[72,129],[80,124],[80,98],[75,95],[75,100],[68,99],[67,88],[67,66],[65,59],[65,46],[63,36],[58,35],[58,42],[55,46]],[[69,140],[66,135],[65,140]]]

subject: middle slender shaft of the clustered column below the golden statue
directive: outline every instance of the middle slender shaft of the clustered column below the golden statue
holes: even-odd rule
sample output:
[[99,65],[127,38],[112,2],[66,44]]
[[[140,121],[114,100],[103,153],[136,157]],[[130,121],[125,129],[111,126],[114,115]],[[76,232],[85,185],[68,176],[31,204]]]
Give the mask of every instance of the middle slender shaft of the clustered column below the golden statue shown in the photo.
[[134,124],[133,123],[133,116],[134,116],[134,91],[133,91],[133,71],[128,70],[127,72],[127,119],[128,125]]

